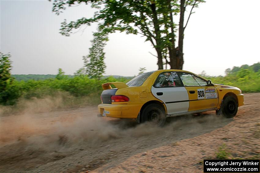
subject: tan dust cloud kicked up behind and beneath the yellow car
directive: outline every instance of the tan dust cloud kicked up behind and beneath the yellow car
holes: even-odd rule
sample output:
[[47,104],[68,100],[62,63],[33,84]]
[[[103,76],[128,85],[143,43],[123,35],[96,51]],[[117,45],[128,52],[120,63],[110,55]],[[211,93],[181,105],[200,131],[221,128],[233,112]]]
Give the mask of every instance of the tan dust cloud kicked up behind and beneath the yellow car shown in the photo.
[[[73,99],[73,98],[72,98]],[[102,145],[111,139],[139,138],[143,136],[160,136],[160,134],[174,134],[183,126],[187,132],[203,129],[201,123],[205,121],[222,121],[216,116],[188,115],[169,118],[165,127],[155,128],[149,124],[137,124],[135,120],[96,117],[97,108],[82,108],[77,110],[58,110],[65,108],[63,96],[46,97],[20,101],[16,110],[20,114],[1,116],[1,147],[8,143],[37,147],[73,147],[77,145]],[[2,108],[1,108],[2,109]],[[56,110],[56,111],[52,111]],[[52,112],[51,112],[52,111]],[[64,113],[64,114],[63,114]],[[87,115],[84,115],[84,114]],[[45,149],[48,150],[48,149]]]

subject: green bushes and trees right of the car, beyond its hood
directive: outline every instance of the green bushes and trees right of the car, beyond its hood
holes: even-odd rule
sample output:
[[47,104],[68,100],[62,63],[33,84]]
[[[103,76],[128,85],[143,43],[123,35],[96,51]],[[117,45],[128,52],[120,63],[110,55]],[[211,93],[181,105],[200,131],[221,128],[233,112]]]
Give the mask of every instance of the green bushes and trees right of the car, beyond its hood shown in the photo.
[[[259,67],[259,68],[258,68]],[[260,63],[225,70],[226,76],[204,76],[213,83],[238,87],[242,92],[260,92]]]

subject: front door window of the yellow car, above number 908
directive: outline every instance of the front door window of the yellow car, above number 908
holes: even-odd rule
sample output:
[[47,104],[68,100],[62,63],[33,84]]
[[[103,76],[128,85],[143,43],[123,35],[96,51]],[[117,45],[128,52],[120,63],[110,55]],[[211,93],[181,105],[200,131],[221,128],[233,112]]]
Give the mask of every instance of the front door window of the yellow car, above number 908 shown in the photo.
[[206,86],[207,82],[194,74],[179,72],[184,86]]

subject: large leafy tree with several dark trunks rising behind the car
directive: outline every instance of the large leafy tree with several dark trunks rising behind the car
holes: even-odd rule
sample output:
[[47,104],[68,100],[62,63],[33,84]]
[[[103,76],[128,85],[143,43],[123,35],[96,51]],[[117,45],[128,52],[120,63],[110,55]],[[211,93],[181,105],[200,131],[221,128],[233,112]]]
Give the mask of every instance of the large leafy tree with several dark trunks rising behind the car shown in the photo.
[[[98,23],[103,34],[125,31],[127,34],[142,34],[157,52],[158,69],[169,64],[171,69],[183,67],[184,30],[193,9],[203,0],[54,0],[53,11],[61,13],[67,6],[89,4],[98,11],[91,18],[61,23],[61,34],[69,36],[74,29]],[[188,11],[189,9],[189,11]],[[188,12],[184,22],[185,12]],[[179,24],[174,22],[178,18]],[[178,36],[178,40],[176,40]],[[177,56],[176,45],[178,44]],[[166,66],[165,66],[166,67]]]

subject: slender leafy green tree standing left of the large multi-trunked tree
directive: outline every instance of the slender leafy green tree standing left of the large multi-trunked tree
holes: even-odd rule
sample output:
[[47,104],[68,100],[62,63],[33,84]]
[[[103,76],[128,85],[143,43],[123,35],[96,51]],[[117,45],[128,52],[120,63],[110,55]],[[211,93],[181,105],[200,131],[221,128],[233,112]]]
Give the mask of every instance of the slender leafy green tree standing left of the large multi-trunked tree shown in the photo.
[[94,39],[91,40],[91,48],[89,48],[89,54],[83,56],[84,66],[86,67],[86,74],[94,79],[100,80],[102,74],[105,73],[106,64],[104,62],[105,52],[103,51],[107,35],[102,32],[94,34]]

